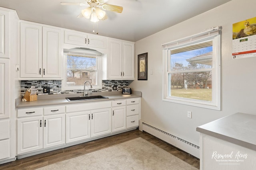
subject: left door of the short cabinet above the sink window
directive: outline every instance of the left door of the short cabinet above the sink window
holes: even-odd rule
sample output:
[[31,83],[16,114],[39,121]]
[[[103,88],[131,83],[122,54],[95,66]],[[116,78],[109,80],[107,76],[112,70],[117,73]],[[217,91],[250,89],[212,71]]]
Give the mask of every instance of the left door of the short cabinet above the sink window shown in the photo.
[[87,46],[87,34],[65,31],[64,42],[67,44]]

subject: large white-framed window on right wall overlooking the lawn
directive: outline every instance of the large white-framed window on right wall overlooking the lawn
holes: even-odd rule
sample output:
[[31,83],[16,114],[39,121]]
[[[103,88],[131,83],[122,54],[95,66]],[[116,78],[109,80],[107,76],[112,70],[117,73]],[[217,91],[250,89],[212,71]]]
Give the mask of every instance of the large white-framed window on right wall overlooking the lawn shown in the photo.
[[220,110],[220,27],[163,46],[163,100]]

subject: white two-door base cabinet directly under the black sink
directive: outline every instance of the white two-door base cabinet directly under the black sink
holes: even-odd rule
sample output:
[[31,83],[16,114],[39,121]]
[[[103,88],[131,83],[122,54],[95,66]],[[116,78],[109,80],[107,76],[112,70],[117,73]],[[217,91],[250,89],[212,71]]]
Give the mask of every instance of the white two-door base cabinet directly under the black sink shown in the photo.
[[66,106],[66,143],[111,133],[111,102]]

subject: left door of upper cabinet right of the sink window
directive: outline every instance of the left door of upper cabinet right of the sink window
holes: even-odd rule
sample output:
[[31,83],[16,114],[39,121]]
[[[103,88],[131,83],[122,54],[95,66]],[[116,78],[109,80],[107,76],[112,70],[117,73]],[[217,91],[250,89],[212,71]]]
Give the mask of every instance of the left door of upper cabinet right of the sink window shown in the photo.
[[122,78],[122,41],[108,39],[108,79]]

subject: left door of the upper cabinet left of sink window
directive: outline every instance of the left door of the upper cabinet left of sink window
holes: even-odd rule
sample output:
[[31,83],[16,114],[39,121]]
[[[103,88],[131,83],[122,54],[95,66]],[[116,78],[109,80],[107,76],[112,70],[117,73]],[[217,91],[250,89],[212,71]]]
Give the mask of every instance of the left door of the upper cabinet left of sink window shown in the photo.
[[20,23],[20,77],[42,77],[42,26]]

